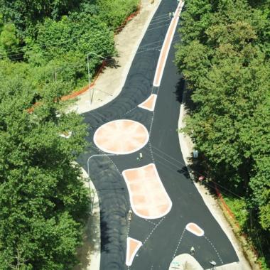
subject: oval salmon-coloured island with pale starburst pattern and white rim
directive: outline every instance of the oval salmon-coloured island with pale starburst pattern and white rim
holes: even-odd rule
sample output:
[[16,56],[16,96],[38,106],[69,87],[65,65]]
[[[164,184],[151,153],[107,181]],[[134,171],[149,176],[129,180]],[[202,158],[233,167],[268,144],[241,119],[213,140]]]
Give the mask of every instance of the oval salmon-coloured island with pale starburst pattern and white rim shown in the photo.
[[126,155],[143,148],[149,139],[146,127],[133,120],[110,121],[94,134],[96,146],[104,152]]

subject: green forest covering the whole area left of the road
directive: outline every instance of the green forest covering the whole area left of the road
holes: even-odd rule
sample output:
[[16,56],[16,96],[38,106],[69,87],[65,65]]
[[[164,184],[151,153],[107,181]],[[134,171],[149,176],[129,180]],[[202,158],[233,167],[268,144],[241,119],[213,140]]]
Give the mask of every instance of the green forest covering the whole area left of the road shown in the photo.
[[[117,54],[139,0],[0,0],[0,269],[68,270],[89,213],[87,127],[61,97]],[[90,57],[95,75],[101,59]],[[70,137],[63,136],[71,134]]]

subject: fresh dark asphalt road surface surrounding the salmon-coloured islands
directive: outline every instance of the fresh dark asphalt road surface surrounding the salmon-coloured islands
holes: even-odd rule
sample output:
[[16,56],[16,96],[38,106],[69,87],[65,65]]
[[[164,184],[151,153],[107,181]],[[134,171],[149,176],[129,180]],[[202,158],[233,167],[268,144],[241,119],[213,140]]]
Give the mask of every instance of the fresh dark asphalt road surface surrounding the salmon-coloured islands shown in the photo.
[[[141,41],[121,94],[104,107],[84,114],[90,133],[87,140],[92,143],[78,160],[85,170],[87,159],[102,153],[92,142],[96,129],[102,124],[115,119],[132,119],[144,124],[150,133],[148,144],[140,150],[144,154],[142,161],[136,160],[138,152],[124,156],[97,156],[90,160],[90,178],[97,188],[101,214],[101,270],[127,269],[128,236],[143,242],[129,267],[132,270],[167,270],[173,257],[189,253],[191,246],[195,247],[195,259],[205,269],[210,268],[211,260],[217,265],[238,261],[232,244],[207,209],[185,168],[176,132],[184,84],[173,63],[173,46],[161,86],[152,85],[159,50],[170,23],[166,14],[174,11],[176,6],[175,0],[161,1]],[[173,43],[175,41],[178,41],[178,33],[175,33]],[[138,108],[137,105],[151,93],[158,94],[155,111]],[[148,163],[156,164],[173,207],[160,219],[144,220],[133,215],[129,223],[129,193],[121,172]],[[205,235],[196,237],[185,230],[189,222],[198,224]]]

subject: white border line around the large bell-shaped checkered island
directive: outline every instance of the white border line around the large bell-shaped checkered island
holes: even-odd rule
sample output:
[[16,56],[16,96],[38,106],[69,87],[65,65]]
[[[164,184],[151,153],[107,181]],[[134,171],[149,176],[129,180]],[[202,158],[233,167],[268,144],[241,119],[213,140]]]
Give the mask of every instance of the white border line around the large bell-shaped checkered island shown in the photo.
[[[136,211],[136,207],[135,207],[134,202],[133,202],[133,200],[132,200],[133,197],[132,197],[131,189],[130,189],[130,187],[129,187],[129,181],[127,180],[126,175],[125,175],[125,172],[126,172],[126,171],[135,171],[135,170],[139,170],[139,169],[141,169],[141,168],[145,168],[145,167],[148,167],[148,166],[153,166],[153,169],[154,169],[154,171],[155,171],[155,173],[156,173],[156,178],[158,179],[158,182],[159,182],[159,184],[161,185],[161,189],[162,189],[163,192],[165,193],[166,198],[167,198],[167,200],[168,200],[168,210],[166,210],[166,212],[164,212],[162,215],[157,215],[157,216],[153,216],[153,217],[148,217],[148,216],[145,216],[145,215],[141,215],[141,214],[139,214],[139,213]],[[123,175],[123,178],[124,178],[124,180],[125,180],[125,182],[126,182],[127,190],[129,191],[129,200],[130,200],[131,208],[133,209],[133,212],[134,212],[138,217],[145,218],[146,220],[155,220],[155,219],[157,219],[157,218],[164,217],[165,215],[168,214],[168,212],[171,211],[171,207],[173,206],[173,202],[171,201],[171,198],[169,197],[169,195],[168,195],[166,189],[164,188],[164,185],[163,185],[163,183],[162,183],[162,181],[161,181],[161,178],[160,178],[159,175],[158,175],[158,171],[157,171],[156,165],[155,165],[154,163],[149,163],[149,164],[147,164],[147,165],[145,165],[145,166],[142,166],[142,167],[126,169],[126,170],[122,171],[122,175]]]

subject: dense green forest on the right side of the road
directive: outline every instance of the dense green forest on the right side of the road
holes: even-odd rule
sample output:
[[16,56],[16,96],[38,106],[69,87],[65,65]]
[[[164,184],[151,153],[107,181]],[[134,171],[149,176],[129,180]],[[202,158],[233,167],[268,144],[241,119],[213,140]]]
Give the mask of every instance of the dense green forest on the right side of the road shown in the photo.
[[186,1],[179,33],[175,63],[190,96],[181,132],[269,269],[270,1]]

